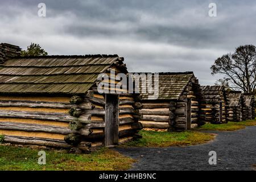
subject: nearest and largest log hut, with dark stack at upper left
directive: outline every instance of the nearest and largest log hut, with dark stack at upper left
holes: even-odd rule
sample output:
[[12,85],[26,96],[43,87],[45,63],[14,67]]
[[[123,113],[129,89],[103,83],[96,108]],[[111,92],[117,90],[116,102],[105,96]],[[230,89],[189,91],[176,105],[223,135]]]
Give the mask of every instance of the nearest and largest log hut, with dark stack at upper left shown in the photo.
[[127,73],[122,57],[16,57],[18,47],[2,47],[0,135],[5,142],[90,151],[138,137],[142,126],[134,105],[139,97],[97,92],[100,73]]

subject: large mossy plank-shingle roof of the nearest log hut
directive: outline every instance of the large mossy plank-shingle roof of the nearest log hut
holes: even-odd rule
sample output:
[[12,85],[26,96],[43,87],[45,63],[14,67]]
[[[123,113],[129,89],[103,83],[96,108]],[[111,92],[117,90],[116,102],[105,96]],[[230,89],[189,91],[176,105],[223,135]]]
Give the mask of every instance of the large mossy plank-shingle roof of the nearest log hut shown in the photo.
[[117,55],[18,57],[0,65],[0,93],[82,94]]

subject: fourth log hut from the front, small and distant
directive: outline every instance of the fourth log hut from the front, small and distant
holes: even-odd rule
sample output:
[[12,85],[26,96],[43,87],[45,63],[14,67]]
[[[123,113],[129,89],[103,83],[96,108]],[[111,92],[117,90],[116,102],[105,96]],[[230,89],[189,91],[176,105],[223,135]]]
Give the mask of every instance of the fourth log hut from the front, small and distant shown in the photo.
[[242,121],[243,94],[240,91],[229,91],[226,93],[228,105],[226,105],[227,121]]

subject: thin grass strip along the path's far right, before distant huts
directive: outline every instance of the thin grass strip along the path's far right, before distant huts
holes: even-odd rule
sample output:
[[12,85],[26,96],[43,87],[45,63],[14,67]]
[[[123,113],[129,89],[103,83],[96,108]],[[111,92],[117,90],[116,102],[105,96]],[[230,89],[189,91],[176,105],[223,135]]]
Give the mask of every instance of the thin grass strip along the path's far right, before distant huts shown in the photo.
[[241,122],[228,122],[223,124],[211,124],[207,123],[203,126],[196,128],[195,130],[211,130],[211,131],[236,131],[245,129],[246,126],[255,126],[256,119],[251,119]]

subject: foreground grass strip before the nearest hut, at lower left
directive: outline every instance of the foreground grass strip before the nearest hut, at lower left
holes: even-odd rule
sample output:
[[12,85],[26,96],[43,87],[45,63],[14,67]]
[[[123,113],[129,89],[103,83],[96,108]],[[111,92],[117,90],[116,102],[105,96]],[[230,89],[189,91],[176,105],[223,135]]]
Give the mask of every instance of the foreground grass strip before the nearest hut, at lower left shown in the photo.
[[46,151],[46,165],[38,164],[38,151],[30,148],[0,146],[0,170],[126,170],[135,162],[117,151],[102,148],[91,154]]

